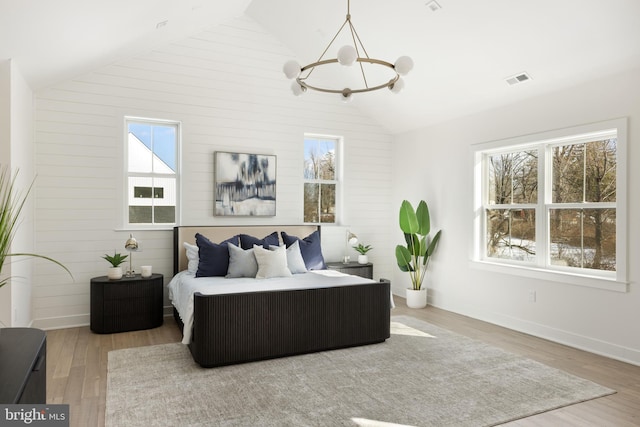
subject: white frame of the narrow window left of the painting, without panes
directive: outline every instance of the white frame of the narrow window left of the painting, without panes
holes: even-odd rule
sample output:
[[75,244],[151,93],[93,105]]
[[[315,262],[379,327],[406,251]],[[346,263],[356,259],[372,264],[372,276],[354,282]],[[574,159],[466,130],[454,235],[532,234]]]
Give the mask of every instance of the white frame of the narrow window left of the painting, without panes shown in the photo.
[[[175,178],[175,222],[173,223],[132,223],[129,222],[129,179],[131,177],[144,177],[144,178],[167,178],[167,174],[154,173],[154,172],[131,172],[129,171],[129,124],[139,123],[146,125],[157,126],[172,126],[176,129],[176,165],[175,173],[171,175]],[[122,203],[122,223],[125,230],[169,230],[174,226],[180,224],[180,201],[181,201],[181,147],[182,147],[182,123],[178,120],[168,119],[155,119],[148,117],[137,116],[125,116],[124,117],[124,129],[123,129],[123,141],[124,141],[124,167],[123,167],[123,203]],[[153,199],[153,198],[152,198]]]

